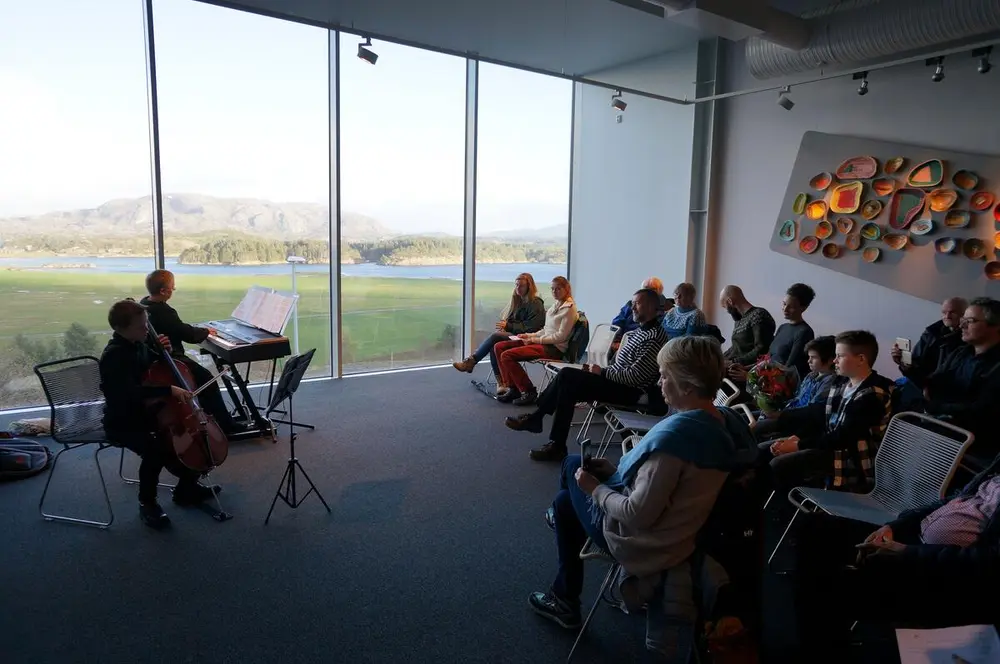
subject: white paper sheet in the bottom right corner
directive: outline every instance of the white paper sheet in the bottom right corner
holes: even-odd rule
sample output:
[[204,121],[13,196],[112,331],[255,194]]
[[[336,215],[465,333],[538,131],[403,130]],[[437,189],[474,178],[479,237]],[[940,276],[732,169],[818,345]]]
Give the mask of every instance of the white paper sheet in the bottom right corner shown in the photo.
[[[897,629],[901,664],[990,664],[1000,662],[1000,638],[993,625],[945,629]],[[956,658],[957,656],[957,658]]]

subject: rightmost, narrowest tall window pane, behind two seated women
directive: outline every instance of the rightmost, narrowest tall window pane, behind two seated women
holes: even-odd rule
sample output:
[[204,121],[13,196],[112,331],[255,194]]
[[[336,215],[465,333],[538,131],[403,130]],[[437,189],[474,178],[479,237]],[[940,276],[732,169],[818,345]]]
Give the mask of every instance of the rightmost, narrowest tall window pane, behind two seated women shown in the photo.
[[530,273],[546,306],[566,275],[573,84],[479,65],[476,330],[493,332],[514,280]]

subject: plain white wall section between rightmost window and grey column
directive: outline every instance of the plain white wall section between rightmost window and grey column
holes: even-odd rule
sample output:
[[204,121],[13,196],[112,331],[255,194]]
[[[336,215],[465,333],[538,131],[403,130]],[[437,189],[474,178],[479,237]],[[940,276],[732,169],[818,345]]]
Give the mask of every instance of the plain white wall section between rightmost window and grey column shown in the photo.
[[[593,78],[664,95],[693,95],[697,49]],[[648,276],[684,281],[694,108],[576,85],[570,281],[591,323],[610,321]]]

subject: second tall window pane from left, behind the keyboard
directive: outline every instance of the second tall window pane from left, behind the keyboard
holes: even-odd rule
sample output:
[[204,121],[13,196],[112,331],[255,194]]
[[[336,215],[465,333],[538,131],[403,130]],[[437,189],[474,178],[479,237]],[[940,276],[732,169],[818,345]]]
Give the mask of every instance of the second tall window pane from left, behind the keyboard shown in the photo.
[[154,7],[171,303],[192,322],[229,318],[251,286],[291,291],[294,267],[285,334],[328,375],[329,33],[191,0]]

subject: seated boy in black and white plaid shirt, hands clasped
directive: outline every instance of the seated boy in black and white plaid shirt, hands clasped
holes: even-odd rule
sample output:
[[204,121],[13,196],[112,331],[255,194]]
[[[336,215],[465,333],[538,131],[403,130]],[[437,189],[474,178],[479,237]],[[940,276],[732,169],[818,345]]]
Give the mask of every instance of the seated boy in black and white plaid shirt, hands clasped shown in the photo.
[[858,491],[874,481],[872,461],[892,415],[894,384],[872,368],[878,342],[871,332],[842,332],[836,341],[839,375],[826,403],[782,411],[774,430],[791,435],[761,443],[779,494],[827,477],[833,488]]

